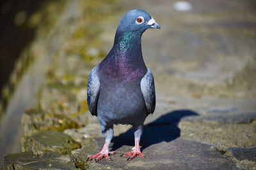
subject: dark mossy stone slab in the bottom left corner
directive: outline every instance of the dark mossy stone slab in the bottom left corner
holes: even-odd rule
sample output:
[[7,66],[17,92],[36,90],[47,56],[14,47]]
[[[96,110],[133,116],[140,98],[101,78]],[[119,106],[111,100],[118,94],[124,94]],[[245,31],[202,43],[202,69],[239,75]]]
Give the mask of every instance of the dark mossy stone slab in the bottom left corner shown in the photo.
[[40,156],[32,153],[15,153],[4,157],[3,169],[28,170],[28,169],[76,169],[74,157],[47,152]]

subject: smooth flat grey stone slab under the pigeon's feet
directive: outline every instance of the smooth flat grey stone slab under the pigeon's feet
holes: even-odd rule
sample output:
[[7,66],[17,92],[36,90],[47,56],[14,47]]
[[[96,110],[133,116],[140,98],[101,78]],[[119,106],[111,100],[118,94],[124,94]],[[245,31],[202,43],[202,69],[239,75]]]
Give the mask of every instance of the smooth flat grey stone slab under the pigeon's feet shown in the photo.
[[[145,159],[137,156],[127,161],[127,158],[120,155],[131,150],[133,139],[129,141],[126,139],[116,137],[114,140],[115,143],[112,146],[115,147],[115,154],[111,155],[112,161],[102,159],[96,164],[91,161],[88,169],[236,169],[230,160],[211,145],[182,138],[173,139],[170,142],[159,141],[147,148],[141,144]],[[100,150],[104,138],[96,138],[96,141]],[[122,147],[116,148],[116,143]]]

